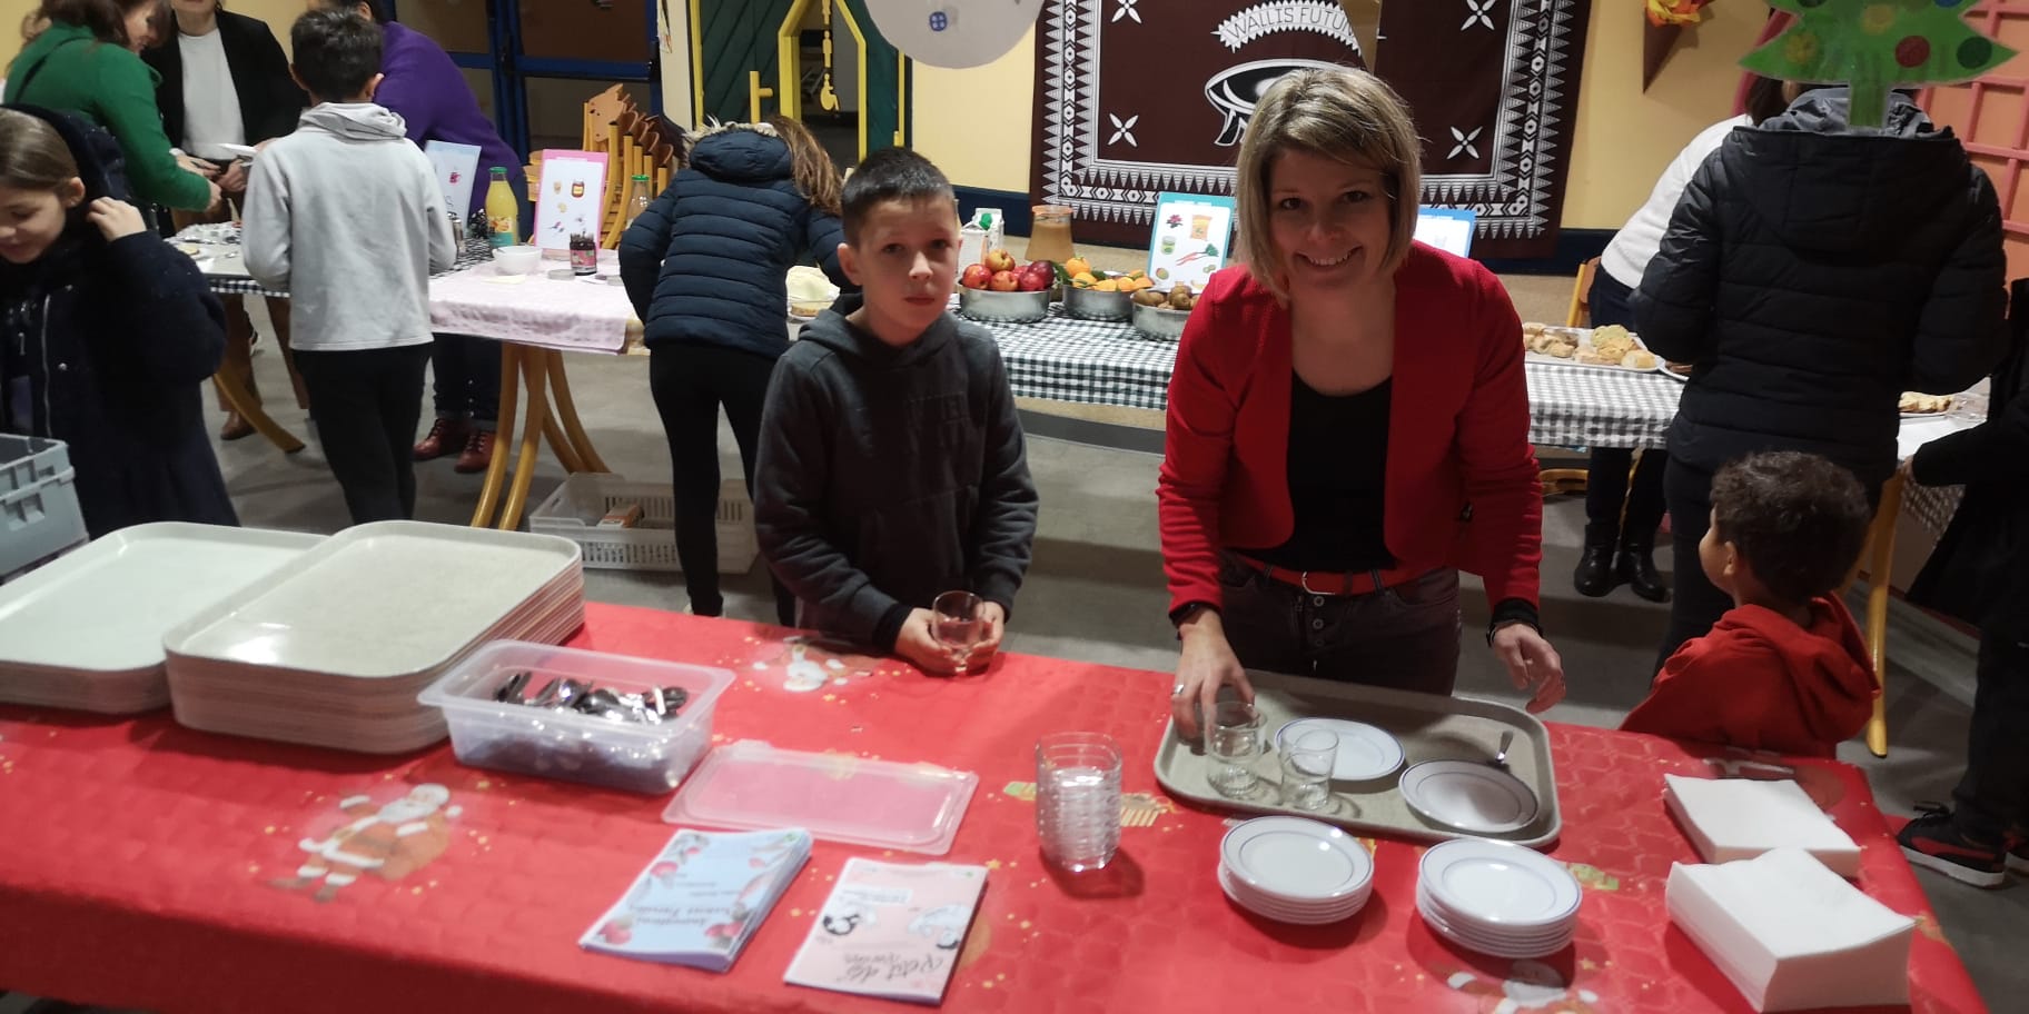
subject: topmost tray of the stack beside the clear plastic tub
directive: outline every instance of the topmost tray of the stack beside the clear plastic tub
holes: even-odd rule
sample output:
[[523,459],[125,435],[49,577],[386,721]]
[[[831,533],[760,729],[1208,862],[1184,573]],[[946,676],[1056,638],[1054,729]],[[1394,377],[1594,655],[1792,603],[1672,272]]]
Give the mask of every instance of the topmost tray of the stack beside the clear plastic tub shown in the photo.
[[170,631],[170,677],[179,659],[363,679],[422,673],[578,566],[578,544],[556,535],[355,525]]

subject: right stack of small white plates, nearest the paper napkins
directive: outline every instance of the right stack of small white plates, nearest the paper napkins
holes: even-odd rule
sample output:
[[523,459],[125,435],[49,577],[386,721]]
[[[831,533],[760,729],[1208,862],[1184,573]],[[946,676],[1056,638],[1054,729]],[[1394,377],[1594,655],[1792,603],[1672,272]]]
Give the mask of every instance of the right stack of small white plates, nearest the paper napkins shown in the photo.
[[1416,911],[1439,935],[1493,957],[1546,957],[1579,929],[1579,882],[1548,858],[1461,838],[1422,854]]

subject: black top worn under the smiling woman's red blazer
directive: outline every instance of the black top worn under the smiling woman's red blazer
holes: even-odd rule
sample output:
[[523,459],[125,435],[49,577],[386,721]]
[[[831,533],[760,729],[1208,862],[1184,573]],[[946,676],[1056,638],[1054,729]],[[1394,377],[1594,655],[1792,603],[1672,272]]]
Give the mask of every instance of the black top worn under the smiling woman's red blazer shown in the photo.
[[1384,379],[1359,393],[1327,395],[1290,373],[1288,503],[1297,527],[1282,546],[1242,554],[1333,574],[1394,566],[1382,539],[1392,387]]

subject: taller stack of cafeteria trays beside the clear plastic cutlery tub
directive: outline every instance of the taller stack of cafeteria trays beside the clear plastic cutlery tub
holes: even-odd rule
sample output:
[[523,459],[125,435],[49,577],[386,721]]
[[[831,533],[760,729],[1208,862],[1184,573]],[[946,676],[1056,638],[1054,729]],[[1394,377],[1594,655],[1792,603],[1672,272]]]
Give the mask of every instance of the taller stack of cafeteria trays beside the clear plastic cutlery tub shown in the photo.
[[444,738],[416,696],[487,641],[584,623],[578,544],[379,521],[333,535],[164,637],[177,722],[361,752]]

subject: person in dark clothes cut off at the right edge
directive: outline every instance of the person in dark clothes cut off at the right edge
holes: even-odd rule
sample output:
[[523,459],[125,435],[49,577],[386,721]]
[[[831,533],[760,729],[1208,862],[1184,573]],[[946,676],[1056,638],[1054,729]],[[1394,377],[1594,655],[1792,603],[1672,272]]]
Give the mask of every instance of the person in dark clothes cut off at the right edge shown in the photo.
[[1986,422],[1907,462],[1917,483],[1966,487],[1909,600],[1976,625],[1980,655],[1956,811],[1934,807],[1897,838],[1909,862],[1976,886],[2029,874],[2029,280],[2011,302],[2015,351]]

